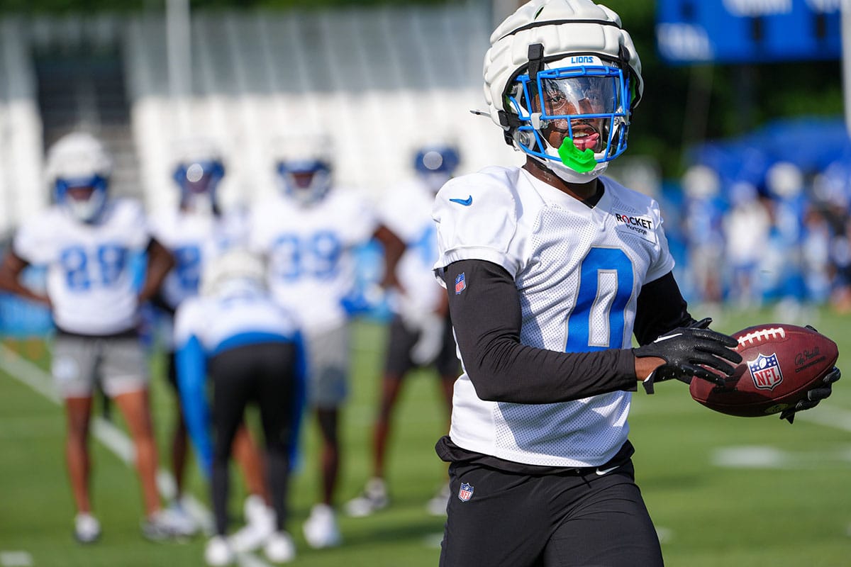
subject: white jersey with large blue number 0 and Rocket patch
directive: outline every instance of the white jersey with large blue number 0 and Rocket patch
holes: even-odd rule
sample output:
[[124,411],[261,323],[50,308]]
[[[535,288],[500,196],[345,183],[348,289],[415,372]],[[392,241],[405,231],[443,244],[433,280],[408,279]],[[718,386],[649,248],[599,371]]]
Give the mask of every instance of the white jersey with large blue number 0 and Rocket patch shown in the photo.
[[[524,345],[630,348],[638,293],[674,261],[658,203],[600,179],[605,191],[593,208],[519,167],[449,181],[433,210],[435,269],[465,259],[505,268],[521,298]],[[456,290],[450,292],[464,292]],[[595,467],[625,442],[630,402],[629,392],[543,405],[483,401],[464,373],[455,383],[449,435],[469,451],[508,461]]]

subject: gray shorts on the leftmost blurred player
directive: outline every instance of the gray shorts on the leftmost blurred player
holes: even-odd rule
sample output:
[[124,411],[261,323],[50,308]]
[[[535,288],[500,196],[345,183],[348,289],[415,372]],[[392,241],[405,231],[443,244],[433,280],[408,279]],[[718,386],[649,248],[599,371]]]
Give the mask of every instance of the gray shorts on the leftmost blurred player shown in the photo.
[[148,387],[145,351],[139,337],[132,333],[83,337],[58,332],[52,366],[63,398],[89,398],[95,384],[111,398]]

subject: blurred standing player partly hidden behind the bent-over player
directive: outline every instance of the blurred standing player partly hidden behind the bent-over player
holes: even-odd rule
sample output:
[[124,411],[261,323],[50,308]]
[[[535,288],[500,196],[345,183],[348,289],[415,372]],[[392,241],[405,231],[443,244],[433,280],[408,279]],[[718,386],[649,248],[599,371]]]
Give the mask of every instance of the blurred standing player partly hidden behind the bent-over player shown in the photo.
[[[158,212],[151,219],[151,231],[174,257],[174,268],[166,276],[153,303],[157,307],[157,323],[166,335],[168,383],[177,394],[172,337],[174,311],[187,298],[197,295],[203,267],[211,258],[227,247],[244,242],[247,219],[238,211],[224,213],[220,207],[218,187],[225,177],[225,164],[212,140],[182,139],[175,147],[175,154],[173,178],[180,189],[180,203],[177,208]],[[174,408],[171,457],[177,495],[172,510],[188,524],[191,518],[180,504],[186,475],[186,422],[182,405],[177,403]],[[243,551],[260,545],[273,525],[260,454],[247,428],[238,430],[234,453],[243,469],[249,493],[245,502],[248,525],[234,536],[237,549]]]

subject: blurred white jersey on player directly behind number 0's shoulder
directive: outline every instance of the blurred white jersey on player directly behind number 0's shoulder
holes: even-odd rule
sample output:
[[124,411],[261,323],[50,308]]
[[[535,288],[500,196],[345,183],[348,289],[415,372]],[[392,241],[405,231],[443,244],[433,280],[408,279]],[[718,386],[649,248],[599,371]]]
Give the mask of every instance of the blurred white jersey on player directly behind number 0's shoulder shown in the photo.
[[[437,228],[431,219],[434,193],[419,179],[386,191],[379,214],[383,224],[405,243],[396,276],[405,290],[408,307],[421,313],[437,308],[445,293],[431,271],[437,260]],[[399,305],[391,303],[398,311]]]

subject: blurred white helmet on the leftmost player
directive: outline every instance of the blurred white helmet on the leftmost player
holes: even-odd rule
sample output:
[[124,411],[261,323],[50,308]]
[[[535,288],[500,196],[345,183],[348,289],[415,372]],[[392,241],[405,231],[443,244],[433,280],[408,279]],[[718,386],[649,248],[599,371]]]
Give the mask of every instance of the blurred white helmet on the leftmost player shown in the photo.
[[83,223],[94,223],[106,207],[112,171],[104,145],[89,133],[66,134],[50,147],[46,163],[56,202]]

